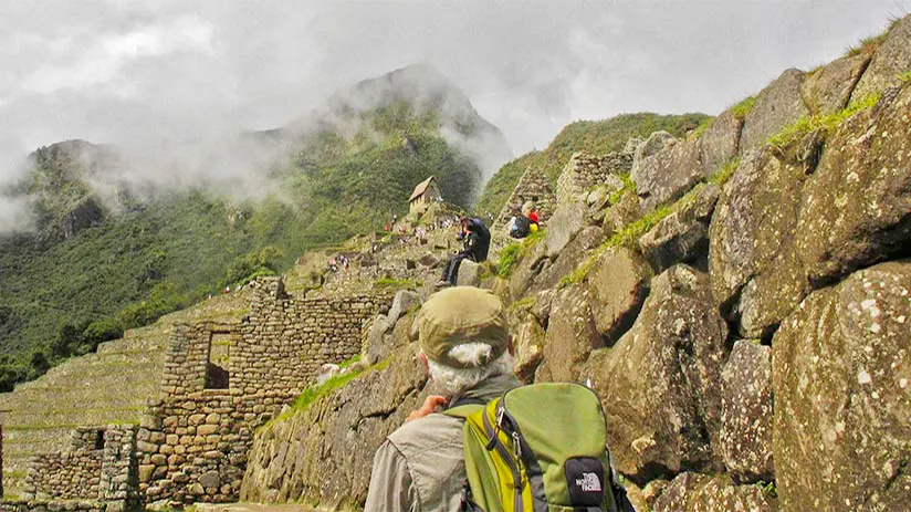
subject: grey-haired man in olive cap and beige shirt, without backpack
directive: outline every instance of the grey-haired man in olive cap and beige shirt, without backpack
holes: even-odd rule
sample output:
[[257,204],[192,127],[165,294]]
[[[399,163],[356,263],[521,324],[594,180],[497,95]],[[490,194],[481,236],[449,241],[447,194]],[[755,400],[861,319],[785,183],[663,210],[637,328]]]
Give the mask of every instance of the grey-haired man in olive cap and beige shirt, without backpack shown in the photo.
[[462,420],[437,408],[484,404],[520,386],[506,312],[488,290],[450,288],[418,314],[431,395],[374,457],[366,512],[457,511],[465,480]]

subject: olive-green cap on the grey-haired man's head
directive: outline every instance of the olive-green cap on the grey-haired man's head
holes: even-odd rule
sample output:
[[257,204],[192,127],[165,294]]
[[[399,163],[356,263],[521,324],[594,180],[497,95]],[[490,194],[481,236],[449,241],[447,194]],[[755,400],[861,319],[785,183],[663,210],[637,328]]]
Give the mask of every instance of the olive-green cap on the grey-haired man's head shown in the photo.
[[491,351],[488,364],[503,355],[509,346],[506,311],[490,290],[474,286],[448,288],[430,295],[418,315],[420,346],[431,361],[452,367],[471,365],[449,357],[449,351],[468,343],[486,343]]

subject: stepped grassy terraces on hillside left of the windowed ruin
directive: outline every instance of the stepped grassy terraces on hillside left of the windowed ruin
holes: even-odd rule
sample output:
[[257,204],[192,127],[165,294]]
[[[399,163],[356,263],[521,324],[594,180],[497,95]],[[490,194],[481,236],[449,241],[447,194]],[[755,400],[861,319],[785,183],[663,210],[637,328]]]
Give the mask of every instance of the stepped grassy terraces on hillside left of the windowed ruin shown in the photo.
[[247,294],[213,297],[127,331],[97,353],[67,359],[39,379],[0,394],[7,494],[21,492],[28,459],[67,447],[74,427],[139,422],[146,400],[158,393],[171,325],[238,321],[249,311],[248,303]]

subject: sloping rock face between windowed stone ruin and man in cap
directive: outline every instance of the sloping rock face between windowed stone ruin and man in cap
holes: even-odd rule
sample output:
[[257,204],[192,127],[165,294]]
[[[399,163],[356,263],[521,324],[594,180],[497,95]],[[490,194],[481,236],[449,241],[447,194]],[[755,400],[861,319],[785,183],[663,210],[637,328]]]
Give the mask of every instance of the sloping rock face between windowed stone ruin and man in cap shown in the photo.
[[260,429],[241,500],[335,508],[363,503],[374,452],[422,400],[425,377],[416,351],[406,346],[387,369],[367,370],[337,393]]

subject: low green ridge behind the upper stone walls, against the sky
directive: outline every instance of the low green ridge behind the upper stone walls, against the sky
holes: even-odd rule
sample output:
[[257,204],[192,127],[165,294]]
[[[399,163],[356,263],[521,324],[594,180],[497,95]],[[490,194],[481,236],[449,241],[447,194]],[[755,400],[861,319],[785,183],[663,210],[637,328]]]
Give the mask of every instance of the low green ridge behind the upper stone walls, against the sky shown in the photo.
[[709,118],[704,114],[642,113],[622,114],[604,121],[570,123],[544,150],[528,153],[501,167],[484,187],[475,203],[475,211],[484,215],[500,213],[522,174],[530,166],[541,168],[552,184],[555,184],[559,171],[576,151],[585,150],[594,155],[619,151],[630,137],[648,137],[661,129],[676,137],[682,137]]

